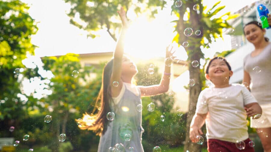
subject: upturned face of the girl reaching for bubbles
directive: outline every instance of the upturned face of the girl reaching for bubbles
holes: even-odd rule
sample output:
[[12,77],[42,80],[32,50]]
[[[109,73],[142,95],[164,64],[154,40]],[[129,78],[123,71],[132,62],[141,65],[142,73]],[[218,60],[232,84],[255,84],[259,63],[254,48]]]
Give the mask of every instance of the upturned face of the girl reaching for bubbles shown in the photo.
[[136,64],[134,64],[130,58],[123,55],[122,58],[122,73],[135,75],[138,72]]

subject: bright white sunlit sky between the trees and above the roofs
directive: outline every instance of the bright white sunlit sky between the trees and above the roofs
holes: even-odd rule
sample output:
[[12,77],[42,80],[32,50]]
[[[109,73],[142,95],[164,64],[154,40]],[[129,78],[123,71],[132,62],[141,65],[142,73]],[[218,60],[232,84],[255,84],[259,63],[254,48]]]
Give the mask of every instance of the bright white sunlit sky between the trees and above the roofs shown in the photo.
[[[77,28],[69,23],[70,18],[66,12],[70,10],[70,4],[63,0],[21,0],[30,6],[28,10],[30,16],[39,22],[39,30],[32,36],[32,43],[39,46],[36,48],[35,55],[53,56],[64,55],[72,52],[93,53],[114,51],[115,41],[109,36],[107,31],[97,31],[98,37],[87,38],[86,31]],[[183,0],[184,1],[184,0]],[[255,0],[222,0],[221,6],[226,5],[225,9],[219,15],[228,11],[235,12],[245,5],[251,4]],[[125,51],[131,55],[151,57],[163,57],[166,46],[171,44],[173,37],[173,24],[170,24],[174,16],[170,16],[170,6],[174,1],[167,1],[168,5],[163,11],[159,11],[156,18],[148,22],[145,16],[136,18],[133,13],[127,13],[133,24],[130,28],[130,37]],[[204,0],[204,5],[211,7],[216,1]],[[181,6],[182,7],[182,6]],[[163,29],[163,30],[161,30]],[[195,31],[196,29],[194,29]],[[144,33],[144,35],[142,35]],[[128,35],[128,34],[127,34]],[[214,52],[221,52],[231,49],[229,35],[224,35],[218,42],[212,43],[211,48],[203,51],[205,57],[212,56]],[[186,60],[187,55],[182,46],[178,48],[177,44],[172,44],[176,49],[176,56],[179,59]]]

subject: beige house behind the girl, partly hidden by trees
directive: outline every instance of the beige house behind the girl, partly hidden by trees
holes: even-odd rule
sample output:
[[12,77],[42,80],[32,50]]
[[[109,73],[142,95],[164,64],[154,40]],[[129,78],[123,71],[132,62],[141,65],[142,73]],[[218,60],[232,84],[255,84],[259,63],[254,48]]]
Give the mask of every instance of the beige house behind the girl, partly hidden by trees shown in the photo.
[[[79,54],[80,64],[82,66],[93,66],[97,68],[100,67],[101,63],[110,61],[112,56],[113,56],[113,52]],[[134,58],[134,57],[130,57],[130,58],[133,62],[135,62],[135,64],[154,63],[154,66],[158,67],[159,69],[158,72],[161,74],[164,73],[164,66],[165,66],[164,58],[151,58],[149,60],[142,59],[142,58]],[[185,91],[182,85],[176,84],[176,80],[180,79],[179,76],[187,70],[188,70],[188,67],[187,67],[186,62],[176,63],[176,61],[174,61],[174,63],[171,66],[172,76],[170,79],[170,90],[174,89],[174,92],[175,92],[175,95],[174,95],[175,103],[173,107],[174,108],[178,107],[183,112],[188,111],[188,92]],[[93,79],[95,78],[95,76],[96,76],[95,73],[91,73],[90,77],[88,77],[87,79]]]

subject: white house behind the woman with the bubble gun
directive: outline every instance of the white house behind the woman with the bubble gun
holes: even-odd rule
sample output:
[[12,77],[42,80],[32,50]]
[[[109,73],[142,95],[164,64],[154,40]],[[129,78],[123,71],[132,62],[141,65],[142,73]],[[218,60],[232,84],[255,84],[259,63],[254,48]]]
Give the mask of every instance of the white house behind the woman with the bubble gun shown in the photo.
[[[259,2],[254,2],[250,6],[246,6],[241,10],[238,10],[240,16],[236,19],[233,19],[230,24],[232,25],[234,31],[232,29],[228,29],[225,31],[225,34],[231,35],[231,44],[232,49],[236,49],[234,52],[226,56],[227,61],[229,61],[233,75],[229,80],[230,83],[241,83],[244,76],[244,69],[243,69],[243,60],[246,55],[251,53],[254,50],[253,44],[248,42],[245,38],[243,27],[245,24],[251,21],[258,21],[258,11],[257,6]],[[268,10],[270,10],[270,5]],[[265,37],[268,37],[271,40],[271,29],[266,29]]]

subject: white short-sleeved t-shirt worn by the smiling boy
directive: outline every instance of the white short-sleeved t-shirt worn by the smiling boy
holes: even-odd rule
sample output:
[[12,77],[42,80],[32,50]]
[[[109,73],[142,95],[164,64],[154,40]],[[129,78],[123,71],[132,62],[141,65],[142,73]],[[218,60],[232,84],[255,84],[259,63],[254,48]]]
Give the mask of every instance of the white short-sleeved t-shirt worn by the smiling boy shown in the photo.
[[248,139],[247,115],[244,109],[257,101],[247,88],[232,84],[226,88],[206,88],[198,97],[196,113],[207,114],[207,139],[236,142]]

